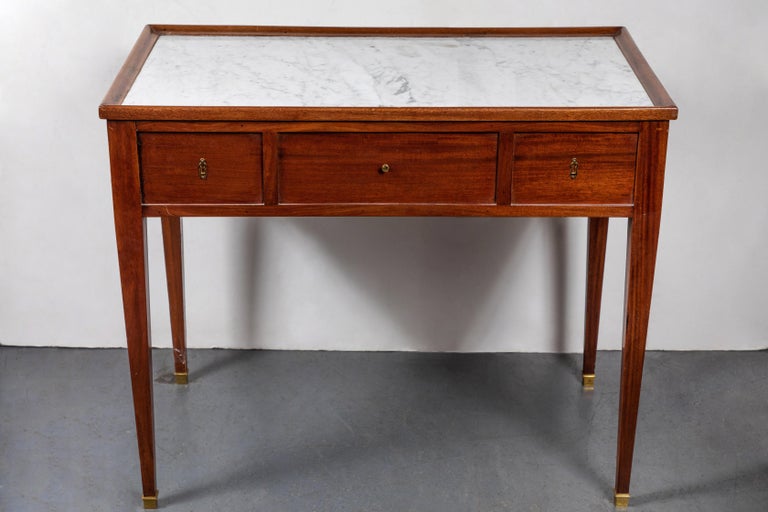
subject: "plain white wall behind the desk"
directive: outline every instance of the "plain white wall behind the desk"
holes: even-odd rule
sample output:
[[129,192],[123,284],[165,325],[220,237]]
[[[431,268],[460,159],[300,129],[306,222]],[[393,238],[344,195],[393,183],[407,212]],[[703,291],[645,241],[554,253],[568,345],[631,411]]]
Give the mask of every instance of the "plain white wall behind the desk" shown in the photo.
[[[123,346],[105,123],[147,23],[626,25],[680,108],[649,348],[768,347],[768,3],[4,0],[0,344]],[[579,351],[581,219],[187,219],[192,347]],[[169,345],[159,221],[153,337]],[[601,348],[620,346],[626,223]]]

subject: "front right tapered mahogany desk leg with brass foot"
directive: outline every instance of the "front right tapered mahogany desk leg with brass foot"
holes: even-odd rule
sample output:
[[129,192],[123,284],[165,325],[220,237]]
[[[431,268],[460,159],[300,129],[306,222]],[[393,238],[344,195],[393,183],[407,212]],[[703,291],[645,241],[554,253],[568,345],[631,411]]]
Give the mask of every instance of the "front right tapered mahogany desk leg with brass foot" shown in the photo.
[[645,342],[661,220],[668,123],[646,123],[641,132],[635,212],[628,223],[624,339],[621,351],[619,432],[616,451],[617,507],[629,504],[629,479],[635,447],[637,411],[643,378]]

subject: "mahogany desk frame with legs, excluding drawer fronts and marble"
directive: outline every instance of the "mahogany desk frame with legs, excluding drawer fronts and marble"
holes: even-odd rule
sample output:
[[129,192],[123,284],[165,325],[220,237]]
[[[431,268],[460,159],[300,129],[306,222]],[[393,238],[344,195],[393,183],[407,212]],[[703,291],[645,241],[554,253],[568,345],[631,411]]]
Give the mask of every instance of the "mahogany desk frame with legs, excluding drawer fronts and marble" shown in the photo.
[[[605,36],[612,37],[648,93],[650,107],[313,108],[126,106],[122,101],[163,34],[321,36]],[[175,372],[187,375],[184,335],[182,216],[577,216],[589,219],[584,374],[593,375],[609,217],[626,217],[625,330],[622,345],[615,494],[626,504],[632,467],[645,341],[656,260],[669,121],[677,107],[623,27],[588,28],[316,28],[147,26],[99,107],[109,137],[115,232],[145,506],[157,505],[149,333],[146,217],[161,217],[172,318]],[[498,160],[493,204],[281,204],[278,139],[281,133],[337,132],[496,133]],[[514,136],[542,132],[638,134],[631,204],[515,204],[511,182]],[[258,204],[145,204],[138,134],[141,132],[258,132],[263,143],[263,202]]]

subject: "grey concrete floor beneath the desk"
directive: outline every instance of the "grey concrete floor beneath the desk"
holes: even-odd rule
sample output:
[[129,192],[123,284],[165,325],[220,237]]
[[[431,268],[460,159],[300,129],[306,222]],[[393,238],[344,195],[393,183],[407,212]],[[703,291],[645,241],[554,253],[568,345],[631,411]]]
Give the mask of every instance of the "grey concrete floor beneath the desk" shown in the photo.
[[[612,511],[619,354],[155,353],[161,508]],[[768,352],[649,353],[630,510],[768,510]],[[0,510],[141,510],[124,350],[0,347]]]

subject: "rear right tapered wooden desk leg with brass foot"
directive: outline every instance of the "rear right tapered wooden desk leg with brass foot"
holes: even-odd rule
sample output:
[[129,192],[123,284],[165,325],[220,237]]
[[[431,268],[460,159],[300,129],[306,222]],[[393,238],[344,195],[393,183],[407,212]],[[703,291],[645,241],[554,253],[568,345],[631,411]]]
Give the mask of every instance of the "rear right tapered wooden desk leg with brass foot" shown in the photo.
[[587,229],[587,296],[581,382],[584,389],[589,390],[595,387],[595,358],[597,357],[597,333],[600,328],[608,218],[591,217]]

